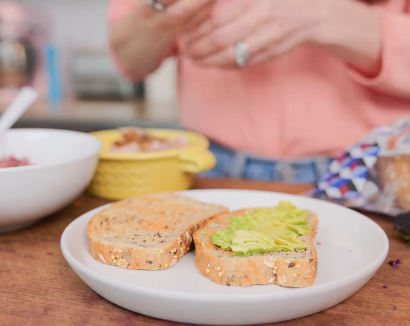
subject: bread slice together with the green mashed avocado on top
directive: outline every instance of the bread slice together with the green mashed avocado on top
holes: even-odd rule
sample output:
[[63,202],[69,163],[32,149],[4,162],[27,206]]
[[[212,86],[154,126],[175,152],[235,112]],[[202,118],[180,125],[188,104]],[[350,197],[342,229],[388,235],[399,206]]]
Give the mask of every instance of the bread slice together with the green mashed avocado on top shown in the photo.
[[317,274],[317,215],[282,201],[221,213],[194,233],[195,264],[221,285],[306,287]]

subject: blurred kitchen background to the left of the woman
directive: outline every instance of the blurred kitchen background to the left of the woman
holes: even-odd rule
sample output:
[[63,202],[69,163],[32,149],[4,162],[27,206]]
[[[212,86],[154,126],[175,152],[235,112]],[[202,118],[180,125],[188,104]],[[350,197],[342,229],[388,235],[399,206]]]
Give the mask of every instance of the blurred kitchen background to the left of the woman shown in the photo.
[[40,93],[17,128],[179,128],[176,65],[128,82],[107,46],[109,0],[0,1],[0,114],[17,90]]

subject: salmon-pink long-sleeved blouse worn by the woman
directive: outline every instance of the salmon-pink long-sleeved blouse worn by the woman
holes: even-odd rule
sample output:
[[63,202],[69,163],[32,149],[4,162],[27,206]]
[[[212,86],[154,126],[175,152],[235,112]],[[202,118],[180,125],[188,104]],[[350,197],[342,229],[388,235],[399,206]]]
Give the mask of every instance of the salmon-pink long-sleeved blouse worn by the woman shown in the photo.
[[[110,21],[121,19],[133,4],[112,0]],[[235,71],[201,68],[177,54],[183,125],[235,150],[298,159],[338,155],[371,129],[408,115],[410,5],[390,0],[382,6],[383,68],[372,79],[308,46]],[[122,71],[132,79],[145,77]]]

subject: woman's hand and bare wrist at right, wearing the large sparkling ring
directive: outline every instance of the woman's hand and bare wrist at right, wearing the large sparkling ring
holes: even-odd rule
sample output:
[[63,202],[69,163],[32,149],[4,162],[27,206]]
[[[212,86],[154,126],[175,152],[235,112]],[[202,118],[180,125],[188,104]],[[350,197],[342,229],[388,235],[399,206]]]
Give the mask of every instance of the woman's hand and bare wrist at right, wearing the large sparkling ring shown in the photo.
[[186,55],[210,67],[232,68],[235,44],[249,48],[247,65],[268,62],[301,44],[328,48],[367,74],[380,68],[380,16],[353,0],[237,0],[231,11],[185,35]]

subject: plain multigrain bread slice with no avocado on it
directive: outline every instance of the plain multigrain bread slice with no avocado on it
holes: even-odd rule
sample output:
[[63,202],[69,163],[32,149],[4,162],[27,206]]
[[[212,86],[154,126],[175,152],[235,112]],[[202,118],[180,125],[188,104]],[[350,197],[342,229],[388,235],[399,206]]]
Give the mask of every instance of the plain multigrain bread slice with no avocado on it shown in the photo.
[[119,201],[89,221],[89,250],[123,269],[167,269],[191,249],[195,230],[221,212],[228,209],[172,193]]

